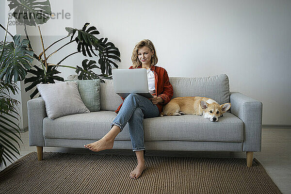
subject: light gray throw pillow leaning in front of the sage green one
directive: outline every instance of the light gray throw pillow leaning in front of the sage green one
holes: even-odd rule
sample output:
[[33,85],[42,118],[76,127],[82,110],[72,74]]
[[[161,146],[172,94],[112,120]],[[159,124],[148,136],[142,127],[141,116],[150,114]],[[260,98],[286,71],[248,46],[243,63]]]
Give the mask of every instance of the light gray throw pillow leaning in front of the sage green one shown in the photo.
[[36,87],[45,101],[50,119],[70,114],[90,113],[81,99],[77,82],[37,84]]

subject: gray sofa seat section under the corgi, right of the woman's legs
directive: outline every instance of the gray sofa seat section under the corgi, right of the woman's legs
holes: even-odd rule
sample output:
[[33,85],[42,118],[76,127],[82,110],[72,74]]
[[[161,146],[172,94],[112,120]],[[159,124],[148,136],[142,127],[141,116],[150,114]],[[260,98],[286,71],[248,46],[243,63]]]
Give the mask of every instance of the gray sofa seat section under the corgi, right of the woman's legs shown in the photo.
[[144,127],[145,140],[150,141],[243,142],[243,122],[231,113],[218,122],[193,114],[156,117],[144,119]]

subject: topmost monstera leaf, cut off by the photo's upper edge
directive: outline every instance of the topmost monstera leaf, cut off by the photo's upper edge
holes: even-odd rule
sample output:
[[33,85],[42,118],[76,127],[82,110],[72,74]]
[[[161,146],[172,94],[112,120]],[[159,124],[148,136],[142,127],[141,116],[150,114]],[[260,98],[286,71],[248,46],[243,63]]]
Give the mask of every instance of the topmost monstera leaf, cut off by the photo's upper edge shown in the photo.
[[44,24],[51,16],[49,0],[7,0],[10,10],[15,9],[12,13],[19,22],[29,26]]

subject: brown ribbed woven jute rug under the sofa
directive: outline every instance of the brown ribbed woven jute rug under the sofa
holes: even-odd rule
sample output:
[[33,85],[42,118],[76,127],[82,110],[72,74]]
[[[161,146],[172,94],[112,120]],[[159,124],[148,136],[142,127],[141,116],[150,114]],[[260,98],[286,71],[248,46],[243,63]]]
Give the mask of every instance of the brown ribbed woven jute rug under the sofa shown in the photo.
[[135,156],[31,152],[0,172],[2,194],[280,194],[254,159],[146,156],[129,178]]

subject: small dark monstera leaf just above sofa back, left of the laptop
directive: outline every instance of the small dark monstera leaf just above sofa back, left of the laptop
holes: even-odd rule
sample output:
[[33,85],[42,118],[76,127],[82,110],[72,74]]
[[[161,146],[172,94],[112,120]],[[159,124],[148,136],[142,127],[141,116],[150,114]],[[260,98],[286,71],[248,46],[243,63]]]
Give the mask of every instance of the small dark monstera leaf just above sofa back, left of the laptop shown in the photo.
[[93,68],[98,68],[96,61],[84,59],[82,61],[82,67],[77,65],[76,73],[78,74],[79,80],[95,80],[99,79],[102,82],[105,82],[102,79],[112,79],[112,76],[108,76],[106,74],[96,74],[92,71]]

